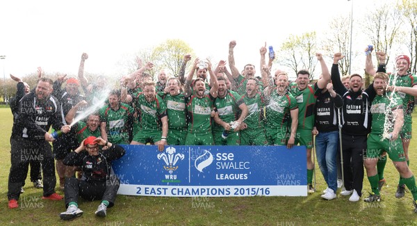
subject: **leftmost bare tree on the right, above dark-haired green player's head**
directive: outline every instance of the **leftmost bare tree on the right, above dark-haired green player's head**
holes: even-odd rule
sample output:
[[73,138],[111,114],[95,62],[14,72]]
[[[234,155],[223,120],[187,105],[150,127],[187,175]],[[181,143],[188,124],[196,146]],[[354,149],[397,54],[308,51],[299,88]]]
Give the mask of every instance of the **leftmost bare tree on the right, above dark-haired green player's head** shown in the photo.
[[290,35],[279,49],[277,61],[297,74],[298,70],[305,69],[310,72],[313,79],[316,69],[316,32],[304,33],[300,36]]

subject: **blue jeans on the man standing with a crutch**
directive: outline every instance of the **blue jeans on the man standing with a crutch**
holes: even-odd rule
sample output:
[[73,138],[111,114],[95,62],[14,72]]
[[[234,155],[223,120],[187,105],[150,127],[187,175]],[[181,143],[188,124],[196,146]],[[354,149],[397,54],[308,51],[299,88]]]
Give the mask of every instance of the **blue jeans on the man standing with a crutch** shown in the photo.
[[336,158],[339,138],[338,131],[319,132],[316,136],[316,154],[318,166],[329,188],[336,193],[337,167]]

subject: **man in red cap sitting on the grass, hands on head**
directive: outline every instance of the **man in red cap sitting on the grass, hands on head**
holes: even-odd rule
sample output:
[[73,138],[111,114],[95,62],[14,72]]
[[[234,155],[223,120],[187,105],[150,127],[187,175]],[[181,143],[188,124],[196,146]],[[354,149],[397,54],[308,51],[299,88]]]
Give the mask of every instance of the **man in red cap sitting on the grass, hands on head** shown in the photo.
[[[99,152],[99,145],[106,146],[107,149]],[[78,208],[79,195],[86,200],[101,199],[95,214],[102,217],[107,215],[106,209],[113,207],[120,186],[120,180],[111,168],[111,161],[120,159],[124,153],[123,147],[119,145],[89,136],[74,152],[70,152],[65,157],[63,163],[67,166],[80,166],[83,177],[65,179],[67,211],[60,213],[61,219],[70,220],[83,214],[83,211]]]

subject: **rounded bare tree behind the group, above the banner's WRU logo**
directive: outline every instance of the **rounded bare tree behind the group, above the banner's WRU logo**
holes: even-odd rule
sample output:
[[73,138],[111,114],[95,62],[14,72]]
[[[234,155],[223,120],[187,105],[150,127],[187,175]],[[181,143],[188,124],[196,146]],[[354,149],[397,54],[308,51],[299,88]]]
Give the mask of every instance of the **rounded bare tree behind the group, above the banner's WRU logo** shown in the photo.
[[165,68],[170,74],[178,76],[183,56],[186,54],[193,56],[193,49],[183,40],[172,39],[166,40],[161,45],[155,47],[152,51],[151,59],[156,71]]

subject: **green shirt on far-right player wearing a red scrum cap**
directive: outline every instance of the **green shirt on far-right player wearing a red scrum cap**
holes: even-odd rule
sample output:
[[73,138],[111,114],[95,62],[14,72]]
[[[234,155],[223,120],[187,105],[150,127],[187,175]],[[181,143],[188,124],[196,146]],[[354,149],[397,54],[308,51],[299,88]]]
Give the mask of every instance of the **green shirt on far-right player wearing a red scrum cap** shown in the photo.
[[[395,86],[413,87],[417,85],[417,77],[413,74],[405,74],[404,76],[389,76],[389,84],[392,86],[395,79]],[[402,98],[402,104],[404,105],[404,115],[411,115],[414,110],[414,96],[406,94],[405,92],[397,92]]]

